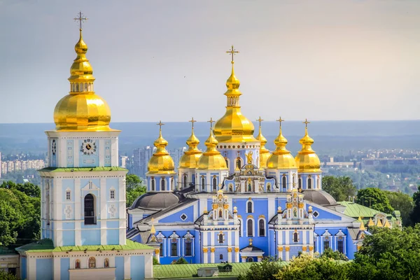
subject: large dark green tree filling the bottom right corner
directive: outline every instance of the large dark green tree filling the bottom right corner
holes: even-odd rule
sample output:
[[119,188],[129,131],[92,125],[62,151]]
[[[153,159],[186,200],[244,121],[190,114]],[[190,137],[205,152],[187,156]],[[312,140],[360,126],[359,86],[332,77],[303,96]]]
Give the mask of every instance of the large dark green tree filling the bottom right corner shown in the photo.
[[419,279],[420,225],[405,230],[373,228],[349,269],[351,279]]

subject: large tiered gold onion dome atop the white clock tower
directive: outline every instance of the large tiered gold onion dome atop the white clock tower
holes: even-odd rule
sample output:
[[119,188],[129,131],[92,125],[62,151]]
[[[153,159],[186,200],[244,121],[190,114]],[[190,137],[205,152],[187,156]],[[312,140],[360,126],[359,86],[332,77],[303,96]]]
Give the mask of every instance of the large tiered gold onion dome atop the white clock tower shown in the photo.
[[93,70],[86,58],[87,45],[82,29],[74,50],[77,56],[70,69],[70,92],[55,106],[55,128],[60,131],[109,131],[111,110],[93,91]]

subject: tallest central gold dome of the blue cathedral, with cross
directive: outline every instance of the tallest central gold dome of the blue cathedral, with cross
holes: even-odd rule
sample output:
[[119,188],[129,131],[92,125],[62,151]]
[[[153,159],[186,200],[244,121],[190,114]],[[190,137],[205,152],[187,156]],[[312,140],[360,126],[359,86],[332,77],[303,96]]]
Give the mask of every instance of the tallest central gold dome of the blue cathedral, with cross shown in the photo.
[[242,115],[241,106],[239,106],[239,97],[241,96],[241,92],[239,91],[240,83],[235,76],[233,67],[233,55],[237,52],[234,50],[233,45],[232,50],[228,51],[232,55],[232,73],[226,81],[228,90],[225,92],[228,103],[225,115],[214,126],[214,135],[220,143],[257,141],[253,137],[253,123]]

